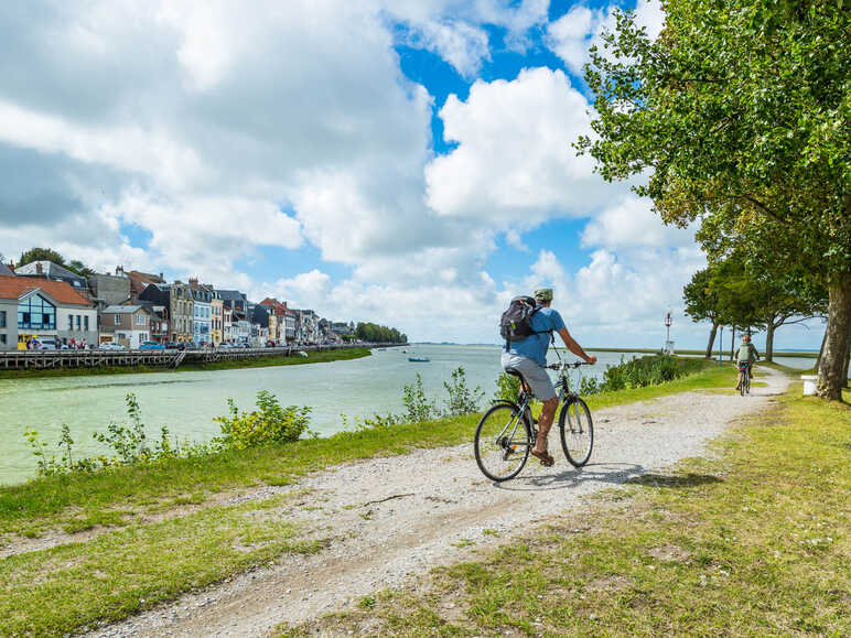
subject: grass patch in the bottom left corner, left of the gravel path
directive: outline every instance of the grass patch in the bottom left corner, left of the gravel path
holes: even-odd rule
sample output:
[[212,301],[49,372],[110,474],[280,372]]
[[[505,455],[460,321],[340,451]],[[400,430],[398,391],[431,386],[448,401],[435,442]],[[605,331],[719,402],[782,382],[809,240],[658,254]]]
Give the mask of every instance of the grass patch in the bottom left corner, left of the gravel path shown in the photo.
[[[281,499],[131,526],[0,560],[0,635],[64,636],[118,620],[288,553],[311,553]],[[268,510],[268,511],[267,511]],[[271,515],[271,516],[270,516]]]

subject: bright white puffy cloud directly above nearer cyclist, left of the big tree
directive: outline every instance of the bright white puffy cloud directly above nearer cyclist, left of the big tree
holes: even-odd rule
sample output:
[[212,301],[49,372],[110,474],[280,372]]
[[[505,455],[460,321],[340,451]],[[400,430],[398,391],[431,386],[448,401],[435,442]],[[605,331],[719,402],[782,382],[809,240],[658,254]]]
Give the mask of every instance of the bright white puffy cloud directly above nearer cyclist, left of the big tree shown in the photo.
[[513,82],[478,80],[465,102],[450,96],[440,117],[457,148],[425,169],[429,205],[506,227],[592,213],[618,187],[571,147],[591,130],[588,108],[564,73],[546,67]]

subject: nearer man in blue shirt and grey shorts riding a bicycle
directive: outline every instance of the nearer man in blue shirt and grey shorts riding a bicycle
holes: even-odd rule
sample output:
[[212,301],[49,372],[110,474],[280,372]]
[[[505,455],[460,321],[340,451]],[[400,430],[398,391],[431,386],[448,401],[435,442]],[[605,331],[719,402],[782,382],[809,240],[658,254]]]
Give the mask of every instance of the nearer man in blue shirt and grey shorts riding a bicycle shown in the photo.
[[556,388],[552,387],[552,381],[545,366],[547,365],[547,349],[552,340],[553,331],[559,334],[564,346],[578,357],[582,357],[589,364],[595,364],[596,357],[588,355],[582,346],[573,340],[568,328],[564,327],[561,315],[550,307],[552,303],[551,288],[538,288],[535,290],[534,296],[538,310],[531,316],[530,323],[536,334],[521,340],[510,342],[503,353],[502,364],[504,370],[513,368],[520,372],[527,389],[543,402],[541,418],[538,422],[538,440],[535,442],[531,455],[540,458],[543,465],[552,465],[554,461],[547,452],[547,435],[550,433],[556,409],[559,407],[559,398],[556,396]]

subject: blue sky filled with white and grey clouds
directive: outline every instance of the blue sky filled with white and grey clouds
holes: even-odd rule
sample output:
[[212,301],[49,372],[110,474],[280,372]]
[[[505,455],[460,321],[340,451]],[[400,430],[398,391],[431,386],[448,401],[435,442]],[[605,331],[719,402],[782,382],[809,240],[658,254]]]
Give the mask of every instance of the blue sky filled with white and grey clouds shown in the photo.
[[414,340],[497,343],[508,300],[551,285],[583,345],[660,346],[670,310],[700,347],[694,229],[571,145],[616,8],[663,28],[657,0],[2,3],[0,253],[197,277]]

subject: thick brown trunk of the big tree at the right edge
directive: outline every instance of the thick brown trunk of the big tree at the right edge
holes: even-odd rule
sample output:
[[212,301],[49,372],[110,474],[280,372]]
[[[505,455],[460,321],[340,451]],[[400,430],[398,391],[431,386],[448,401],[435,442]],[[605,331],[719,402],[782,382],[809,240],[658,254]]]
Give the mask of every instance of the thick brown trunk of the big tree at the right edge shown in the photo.
[[819,397],[842,400],[845,386],[845,354],[851,331],[851,274],[843,274],[828,289],[828,327],[825,331],[825,352],[819,361]]

